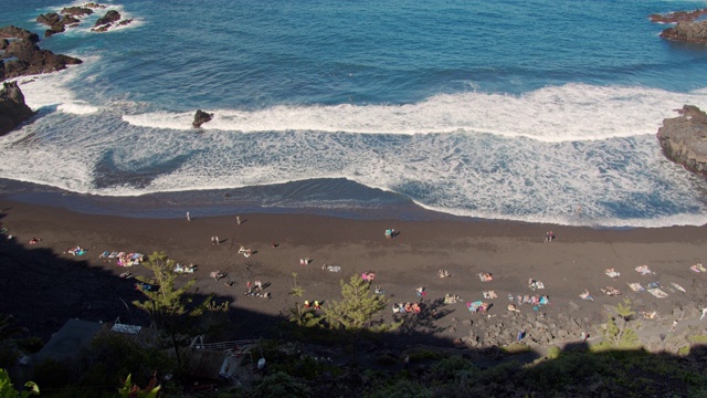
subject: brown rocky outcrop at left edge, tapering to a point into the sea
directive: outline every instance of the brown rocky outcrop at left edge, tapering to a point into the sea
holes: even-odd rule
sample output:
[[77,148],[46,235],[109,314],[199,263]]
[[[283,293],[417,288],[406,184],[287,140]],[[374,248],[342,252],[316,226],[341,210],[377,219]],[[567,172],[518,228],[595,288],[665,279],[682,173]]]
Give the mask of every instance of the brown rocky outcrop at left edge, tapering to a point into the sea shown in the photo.
[[2,57],[13,60],[0,63],[0,81],[56,72],[66,69],[67,65],[82,63],[81,60],[72,56],[41,50],[34,42],[27,39],[9,42]]

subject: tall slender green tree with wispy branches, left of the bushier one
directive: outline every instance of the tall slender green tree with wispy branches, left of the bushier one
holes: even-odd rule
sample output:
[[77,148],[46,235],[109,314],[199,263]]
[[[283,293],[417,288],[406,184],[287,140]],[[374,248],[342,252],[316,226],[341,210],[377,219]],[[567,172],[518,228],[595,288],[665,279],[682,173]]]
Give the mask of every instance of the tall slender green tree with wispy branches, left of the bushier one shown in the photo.
[[140,289],[146,300],[136,300],[133,304],[145,311],[150,316],[152,324],[170,336],[177,365],[181,367],[177,335],[187,332],[193,333],[198,325],[197,321],[204,312],[223,312],[228,310],[228,305],[214,304],[212,296],[208,296],[200,305],[192,305],[192,297],[188,292],[197,280],[191,279],[178,289],[176,286],[178,275],[173,272],[176,262],[170,260],[165,252],[154,252],[143,265],[152,271],[152,277],[138,276],[137,279],[151,287]]

